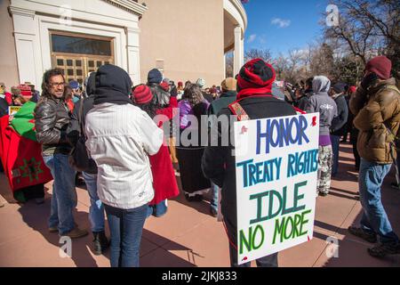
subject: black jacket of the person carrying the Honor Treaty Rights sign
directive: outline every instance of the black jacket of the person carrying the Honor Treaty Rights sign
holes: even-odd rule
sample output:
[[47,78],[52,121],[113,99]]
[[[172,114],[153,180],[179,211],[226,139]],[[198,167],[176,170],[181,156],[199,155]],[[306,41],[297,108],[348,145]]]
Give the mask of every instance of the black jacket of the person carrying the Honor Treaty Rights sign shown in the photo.
[[[251,119],[296,115],[290,104],[275,97],[253,96],[240,101],[240,104]],[[232,113],[228,108],[223,108],[219,116],[224,115],[230,116]],[[219,146],[205,148],[202,167],[205,177],[222,188],[221,210],[224,218],[236,224],[236,163],[231,155],[233,147],[230,142],[229,146],[220,146],[220,134],[226,131],[219,125]],[[233,137],[230,134],[233,132],[232,126],[229,126],[228,132],[230,140]]]

